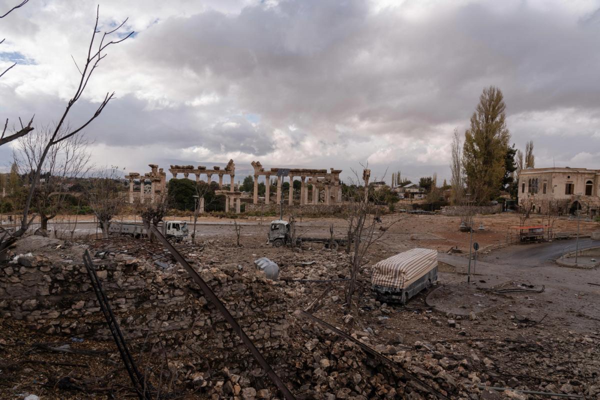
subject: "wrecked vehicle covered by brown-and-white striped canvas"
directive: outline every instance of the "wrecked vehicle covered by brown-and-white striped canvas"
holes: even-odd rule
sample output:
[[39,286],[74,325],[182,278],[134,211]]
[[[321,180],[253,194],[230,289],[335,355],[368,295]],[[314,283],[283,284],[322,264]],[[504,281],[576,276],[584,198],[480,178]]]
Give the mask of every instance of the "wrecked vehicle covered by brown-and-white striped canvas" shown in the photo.
[[437,251],[416,248],[375,264],[371,289],[382,302],[406,304],[436,281]]

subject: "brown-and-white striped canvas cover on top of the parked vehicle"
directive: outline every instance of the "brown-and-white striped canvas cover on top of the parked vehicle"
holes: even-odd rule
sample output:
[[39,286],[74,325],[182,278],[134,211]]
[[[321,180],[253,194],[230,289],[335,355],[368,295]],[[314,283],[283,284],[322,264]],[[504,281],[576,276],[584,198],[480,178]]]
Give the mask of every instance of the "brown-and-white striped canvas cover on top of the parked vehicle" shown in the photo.
[[436,250],[410,249],[375,264],[371,283],[389,288],[405,288],[436,265]]

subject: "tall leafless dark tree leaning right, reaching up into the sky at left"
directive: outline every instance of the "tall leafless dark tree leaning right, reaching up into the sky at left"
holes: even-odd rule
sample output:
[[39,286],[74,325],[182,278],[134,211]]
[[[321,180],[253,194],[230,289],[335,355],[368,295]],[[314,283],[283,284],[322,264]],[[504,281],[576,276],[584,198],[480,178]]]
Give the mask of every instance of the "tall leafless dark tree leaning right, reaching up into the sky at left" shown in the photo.
[[[58,123],[55,126],[55,130],[53,131],[52,135],[49,137],[48,142],[46,143],[46,146],[45,146],[43,152],[41,153],[40,163],[38,164],[37,169],[35,170],[35,174],[34,174],[33,178],[31,179],[31,182],[30,182],[31,186],[29,188],[29,193],[28,193],[27,199],[25,200],[25,204],[23,206],[23,216],[22,216],[22,220],[21,220],[21,227],[14,233],[10,233],[10,237],[8,237],[8,238],[6,236],[0,237],[0,253],[2,253],[4,251],[4,249],[6,249],[8,246],[10,246],[10,244],[13,243],[17,237],[22,236],[29,228],[29,224],[32,221],[32,219],[29,217],[29,209],[31,207],[31,203],[32,203],[32,200],[34,197],[35,187],[37,186],[38,181],[40,180],[41,170],[43,168],[44,161],[46,160],[47,154],[50,151],[50,148],[52,148],[53,145],[56,145],[57,143],[60,143],[63,140],[67,140],[69,137],[76,135],[77,133],[82,131],[85,127],[87,127],[89,124],[91,124],[91,122],[94,121],[94,119],[96,119],[96,118],[98,118],[98,116],[100,116],[100,114],[104,110],[104,107],[106,107],[107,104],[109,104],[110,100],[113,100],[113,98],[115,97],[115,92],[112,92],[112,93],[107,92],[106,96],[104,96],[104,100],[102,100],[100,102],[100,105],[97,107],[94,114],[87,121],[83,122],[83,124],[79,125],[79,127],[75,128],[73,130],[68,130],[66,132],[63,130],[65,121],[67,119],[69,112],[71,111],[73,106],[77,103],[77,101],[81,98],[83,92],[85,91],[85,88],[88,86],[89,79],[91,78],[91,76],[94,73],[94,71],[96,70],[96,68],[98,68],[100,61],[104,57],[106,57],[107,48],[113,44],[121,43],[122,41],[126,40],[128,37],[130,37],[133,34],[133,32],[130,32],[129,34],[124,35],[124,37],[122,37],[122,38],[119,38],[117,40],[110,40],[112,35],[115,34],[115,32],[118,32],[122,28],[122,26],[125,24],[125,22],[127,22],[127,19],[125,19],[120,25],[116,26],[115,29],[112,29],[111,31],[103,32],[103,34],[100,35],[101,31],[98,31],[99,15],[100,15],[100,7],[98,6],[98,8],[96,10],[96,21],[94,24],[94,29],[92,31],[92,37],[91,37],[91,40],[89,41],[88,53],[86,55],[85,61],[83,62],[82,68],[80,68],[79,65],[77,65],[77,63],[75,63],[77,70],[79,71],[79,74],[80,74],[77,89],[76,89],[75,93],[73,94],[73,97],[71,97],[71,99],[68,101],[67,107],[66,107],[64,113],[62,113],[61,118],[58,120]],[[31,125],[31,122],[32,121],[30,121],[29,126]],[[1,144],[2,144],[2,142],[0,142],[0,145]]]

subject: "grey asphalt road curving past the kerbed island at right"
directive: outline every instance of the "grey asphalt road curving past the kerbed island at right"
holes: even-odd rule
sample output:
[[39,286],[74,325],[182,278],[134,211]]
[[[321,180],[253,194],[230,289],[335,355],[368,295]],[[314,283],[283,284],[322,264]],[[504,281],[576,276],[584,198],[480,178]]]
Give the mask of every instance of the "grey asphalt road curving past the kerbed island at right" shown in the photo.
[[[580,240],[581,248],[599,245],[599,240]],[[600,269],[576,269],[559,266],[553,260],[560,257],[565,248],[575,240],[559,240],[550,243],[511,245],[478,257],[476,285],[496,285],[524,282],[545,286],[543,293],[526,296],[526,293],[511,294],[512,311],[542,317],[548,314],[553,324],[568,326],[569,329],[597,329],[598,321],[577,315],[577,312],[600,318]],[[455,266],[458,273],[467,272],[467,257],[440,254],[439,260]],[[473,263],[472,263],[473,268]],[[464,277],[464,275],[462,275]],[[456,280],[455,274],[442,273],[442,278]],[[458,278],[461,279],[461,278]],[[464,279],[464,278],[463,278]],[[480,284],[479,280],[484,280]],[[514,283],[512,283],[514,282]]]

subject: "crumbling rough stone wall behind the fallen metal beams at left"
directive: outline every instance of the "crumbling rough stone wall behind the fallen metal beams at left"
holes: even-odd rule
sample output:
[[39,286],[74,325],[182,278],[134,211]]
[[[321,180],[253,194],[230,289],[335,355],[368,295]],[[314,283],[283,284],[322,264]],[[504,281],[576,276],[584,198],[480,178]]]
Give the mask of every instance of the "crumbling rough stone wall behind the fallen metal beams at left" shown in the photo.
[[[257,347],[281,345],[289,317],[271,287],[276,283],[236,264],[197,268]],[[239,346],[235,333],[184,270],[158,270],[117,254],[99,261],[97,273],[125,338],[145,338],[151,330],[151,340],[160,337],[172,348],[182,335],[192,342],[209,341],[217,349]],[[4,266],[0,314],[28,321],[30,329],[47,334],[112,340],[85,266],[78,261],[51,263],[34,256]]]

